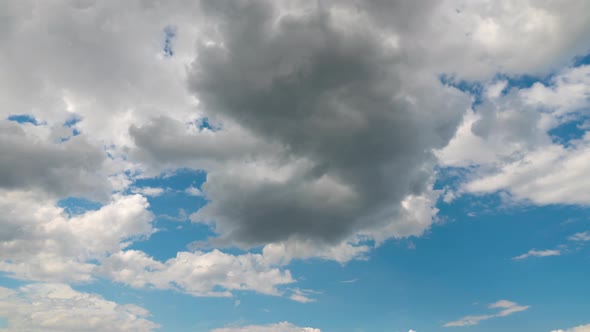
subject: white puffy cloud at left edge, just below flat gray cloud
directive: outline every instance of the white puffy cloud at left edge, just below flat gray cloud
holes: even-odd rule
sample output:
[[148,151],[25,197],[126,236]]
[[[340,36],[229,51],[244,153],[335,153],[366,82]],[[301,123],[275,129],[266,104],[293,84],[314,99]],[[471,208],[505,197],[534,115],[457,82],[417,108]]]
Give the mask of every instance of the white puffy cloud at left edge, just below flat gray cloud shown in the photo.
[[147,200],[115,195],[96,211],[68,216],[54,200],[0,192],[0,270],[29,280],[89,281],[101,260],[154,232]]

